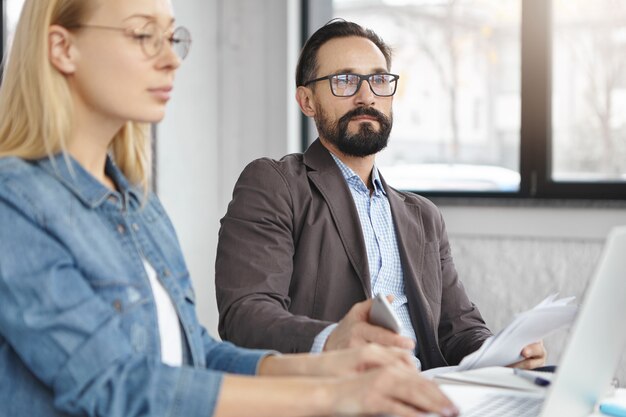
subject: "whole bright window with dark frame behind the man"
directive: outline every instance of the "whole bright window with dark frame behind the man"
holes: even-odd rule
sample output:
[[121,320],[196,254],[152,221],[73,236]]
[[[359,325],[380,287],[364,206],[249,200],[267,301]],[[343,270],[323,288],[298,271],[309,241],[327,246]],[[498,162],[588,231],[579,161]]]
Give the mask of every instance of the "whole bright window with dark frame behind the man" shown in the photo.
[[342,17],[394,49],[394,128],[377,158],[391,185],[433,196],[626,199],[623,1],[318,3],[303,8],[310,33]]

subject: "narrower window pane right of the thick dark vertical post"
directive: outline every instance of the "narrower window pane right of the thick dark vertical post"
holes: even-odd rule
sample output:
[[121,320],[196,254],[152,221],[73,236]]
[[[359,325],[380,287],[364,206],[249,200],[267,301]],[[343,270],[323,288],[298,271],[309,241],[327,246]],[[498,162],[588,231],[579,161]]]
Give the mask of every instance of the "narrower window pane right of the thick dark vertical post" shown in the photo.
[[554,0],[552,179],[626,180],[626,2]]

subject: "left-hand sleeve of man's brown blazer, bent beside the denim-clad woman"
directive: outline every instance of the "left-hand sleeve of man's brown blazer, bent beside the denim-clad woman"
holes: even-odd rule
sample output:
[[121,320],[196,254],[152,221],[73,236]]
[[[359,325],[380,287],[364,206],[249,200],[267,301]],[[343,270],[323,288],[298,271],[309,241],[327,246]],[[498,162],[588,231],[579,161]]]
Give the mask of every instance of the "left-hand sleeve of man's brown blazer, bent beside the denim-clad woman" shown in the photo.
[[307,352],[327,321],[289,311],[295,250],[294,203],[269,159],[242,172],[221,220],[215,288],[219,333],[239,346]]

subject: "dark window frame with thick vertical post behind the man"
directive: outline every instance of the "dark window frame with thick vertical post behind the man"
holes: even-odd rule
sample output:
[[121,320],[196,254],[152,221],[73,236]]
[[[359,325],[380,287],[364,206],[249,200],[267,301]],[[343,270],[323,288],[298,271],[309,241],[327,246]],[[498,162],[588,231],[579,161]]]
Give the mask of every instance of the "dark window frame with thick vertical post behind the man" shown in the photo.
[[[552,0],[520,0],[520,189],[516,192],[420,191],[427,197],[465,199],[626,200],[626,182],[554,181],[552,172]],[[313,1],[302,0],[302,45],[312,26]],[[303,116],[302,149],[312,139]]]

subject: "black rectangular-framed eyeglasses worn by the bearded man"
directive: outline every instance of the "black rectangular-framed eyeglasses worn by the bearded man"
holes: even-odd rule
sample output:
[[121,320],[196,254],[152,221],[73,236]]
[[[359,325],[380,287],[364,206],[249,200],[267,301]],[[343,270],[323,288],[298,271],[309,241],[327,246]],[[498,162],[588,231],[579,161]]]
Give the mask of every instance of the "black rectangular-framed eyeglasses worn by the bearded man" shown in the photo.
[[379,97],[390,97],[396,93],[398,87],[399,75],[396,74],[332,74],[325,77],[309,80],[304,83],[306,87],[309,84],[328,80],[330,83],[330,91],[337,97],[351,97],[359,91],[361,83],[367,81],[372,93]]

